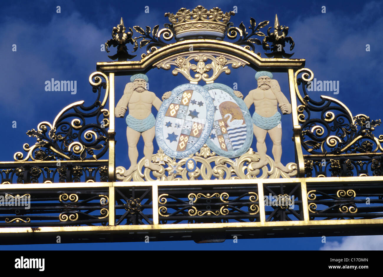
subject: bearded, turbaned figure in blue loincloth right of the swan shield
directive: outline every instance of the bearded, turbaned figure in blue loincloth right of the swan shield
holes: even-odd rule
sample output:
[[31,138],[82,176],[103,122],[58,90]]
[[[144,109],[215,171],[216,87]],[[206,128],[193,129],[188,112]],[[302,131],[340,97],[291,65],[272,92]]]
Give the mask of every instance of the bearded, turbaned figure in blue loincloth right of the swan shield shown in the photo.
[[[255,107],[252,121],[254,124],[254,135],[257,139],[257,152],[260,156],[255,168],[259,169],[267,165],[265,138],[268,133],[273,142],[272,153],[275,166],[283,172],[288,173],[290,170],[281,163],[282,126],[281,114],[278,112],[278,107],[284,115],[290,114],[292,111],[291,104],[281,92],[278,81],[273,80],[273,74],[271,72],[259,71],[255,74],[255,80],[257,80],[258,87],[254,90],[250,90],[244,99],[247,108],[250,108],[253,103]],[[234,93],[237,97],[243,97],[239,91],[235,91]]]

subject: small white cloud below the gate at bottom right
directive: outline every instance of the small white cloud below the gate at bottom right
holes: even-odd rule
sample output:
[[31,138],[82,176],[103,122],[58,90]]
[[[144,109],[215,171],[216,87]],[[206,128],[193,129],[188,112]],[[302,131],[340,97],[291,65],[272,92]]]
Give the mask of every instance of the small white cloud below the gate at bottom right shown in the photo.
[[319,250],[383,250],[383,236],[350,236],[328,241]]

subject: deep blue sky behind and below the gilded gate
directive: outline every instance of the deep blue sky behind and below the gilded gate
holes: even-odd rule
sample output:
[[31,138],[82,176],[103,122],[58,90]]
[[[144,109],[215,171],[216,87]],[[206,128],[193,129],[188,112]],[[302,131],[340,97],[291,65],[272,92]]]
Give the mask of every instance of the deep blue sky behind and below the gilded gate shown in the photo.
[[[116,3],[116,4],[113,4]],[[56,13],[56,7],[61,13]],[[92,103],[89,75],[96,71],[96,62],[110,61],[106,52],[100,51],[100,44],[110,39],[111,29],[119,23],[121,16],[126,26],[155,26],[168,23],[165,12],[175,13],[179,8],[219,7],[230,11],[237,6],[237,14],[231,21],[238,26],[244,21],[249,26],[250,16],[257,23],[270,20],[273,26],[275,13],[280,24],[290,27],[289,36],[295,41],[293,58],[306,59],[306,67],[313,70],[317,80],[339,81],[339,94],[332,92],[311,92],[311,97],[328,95],[345,103],[353,115],[364,113],[372,119],[381,115],[381,90],[383,85],[383,27],[380,1],[14,1],[2,6],[0,11],[0,52],[2,66],[3,136],[0,161],[12,161],[13,154],[22,150],[23,143],[35,141],[25,134],[36,128],[41,121],[52,122],[66,105],[85,100]],[[149,13],[144,13],[149,6]],[[326,6],[326,13],[322,13]],[[266,32],[267,28],[264,28]],[[12,51],[16,44],[17,51]],[[370,51],[366,51],[370,44]],[[131,51],[132,48],[130,47]],[[110,54],[115,53],[115,48]],[[261,46],[256,51],[263,54]],[[289,52],[289,51],[287,51]],[[136,52],[137,59],[142,51]],[[217,82],[232,86],[238,83],[238,90],[247,95],[255,88],[255,71],[249,67],[232,70],[230,75],[219,77]],[[153,69],[147,73],[150,90],[159,97],[166,91],[187,81],[181,76],[173,77],[171,71]],[[46,80],[77,80],[77,93],[46,92]],[[286,74],[275,74],[282,92],[288,96]],[[116,98],[122,95],[128,77],[116,77]],[[202,84],[204,85],[204,84]],[[288,97],[289,98],[289,97]],[[88,101],[88,102],[87,102]],[[116,99],[118,101],[118,99]],[[252,113],[250,109],[250,112]],[[154,113],[155,115],[156,113]],[[283,154],[282,162],[293,161],[291,116],[282,117]],[[12,128],[12,122],[17,128]],[[116,166],[129,164],[124,120],[116,119]],[[382,133],[376,128],[375,134]],[[255,139],[254,139],[255,142]],[[6,145],[6,146],[5,146]],[[270,139],[267,142],[271,155]],[[253,146],[253,148],[255,148]],[[0,249],[275,249],[275,250],[318,250],[357,246],[383,248],[378,236],[362,238],[333,237],[327,243],[321,238],[249,239],[234,244],[232,241],[216,244],[195,244],[194,242],[151,242],[105,243],[105,244],[52,244],[33,246],[2,246]],[[20,248],[19,248],[20,247]],[[338,248],[337,248],[338,247]]]

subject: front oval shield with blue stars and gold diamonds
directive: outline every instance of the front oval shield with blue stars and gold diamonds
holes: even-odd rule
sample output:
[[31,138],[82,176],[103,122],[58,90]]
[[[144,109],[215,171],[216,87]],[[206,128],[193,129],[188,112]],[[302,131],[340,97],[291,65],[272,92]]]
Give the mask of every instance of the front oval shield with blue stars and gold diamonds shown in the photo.
[[157,113],[155,139],[169,157],[182,159],[205,144],[213,121],[214,105],[209,92],[196,84],[179,85]]

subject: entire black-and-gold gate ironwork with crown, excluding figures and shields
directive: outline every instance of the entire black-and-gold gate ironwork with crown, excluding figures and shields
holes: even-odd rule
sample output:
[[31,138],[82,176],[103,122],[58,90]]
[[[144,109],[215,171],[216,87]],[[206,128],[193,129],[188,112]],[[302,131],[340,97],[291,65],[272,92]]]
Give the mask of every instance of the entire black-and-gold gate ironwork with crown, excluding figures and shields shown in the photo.
[[[357,228],[350,226],[380,228],[383,135],[373,134],[380,120],[352,116],[331,97],[322,96],[318,102],[310,98],[306,90],[313,72],[302,68],[304,59],[282,59],[292,55],[283,50],[285,44],[292,50],[294,42],[277,16],[274,31],[268,28],[265,36],[259,30],[268,21],[256,25],[250,18],[247,32],[243,23],[233,27],[230,15],[219,8],[182,8],[168,15],[172,24],[162,30],[159,25],[146,30],[134,26],[128,32],[121,19],[107,43],[117,47],[118,54],[112,57],[118,62],[99,62],[100,72],[90,76],[97,93],[93,105],[85,107],[83,101],[68,105],[52,124],[44,121],[28,131],[37,143],[24,145],[25,157],[17,152],[15,162],[0,162],[1,192],[6,194],[0,195],[2,238],[23,233],[43,239],[49,237],[47,233],[74,231],[76,236],[122,234],[132,241],[142,241],[146,234],[155,240],[196,240],[206,235],[206,229],[225,239],[232,238],[233,232],[254,238],[322,236],[341,228],[339,233],[355,235]],[[140,36],[133,38],[133,31]],[[225,34],[239,39],[220,41]],[[262,46],[271,47],[272,53],[265,53],[270,59],[252,52],[260,44],[253,36],[264,36]],[[177,42],[167,44],[173,38]],[[128,43],[134,44],[134,51],[146,47],[141,60],[126,61],[134,57],[128,53]],[[115,118],[109,116],[115,109],[115,75],[175,66],[173,74],[179,72],[190,82],[213,82],[222,72],[230,73],[229,64],[232,69],[248,65],[257,71],[288,72],[296,163],[287,167],[293,172],[281,172],[268,156],[267,165],[256,169],[259,154],[252,149],[229,159],[206,145],[178,160],[160,149],[152,155],[158,171],[145,167],[144,159],[127,176],[124,167],[115,168]],[[108,159],[101,160],[106,151]],[[29,208],[6,202],[21,198],[28,200]]]

